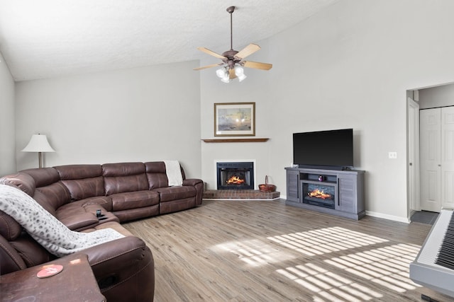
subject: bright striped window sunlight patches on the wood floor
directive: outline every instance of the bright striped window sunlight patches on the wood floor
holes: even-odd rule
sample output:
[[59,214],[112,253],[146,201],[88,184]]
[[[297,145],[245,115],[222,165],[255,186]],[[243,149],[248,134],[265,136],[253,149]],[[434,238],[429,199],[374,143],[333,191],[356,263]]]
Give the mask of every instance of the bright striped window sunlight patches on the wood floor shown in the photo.
[[[233,253],[254,267],[299,259],[294,252],[301,253],[304,263],[277,269],[276,272],[312,291],[313,301],[369,301],[384,298],[383,294],[373,290],[377,286],[397,294],[419,286],[409,279],[409,264],[421,248],[417,245],[392,245],[387,239],[341,227],[267,239],[270,243],[257,239],[231,241],[214,248]],[[284,249],[276,248],[272,243]],[[361,251],[354,252],[357,248]],[[342,255],[348,250],[350,253]],[[336,252],[336,257],[330,256],[333,252]],[[315,265],[311,259],[319,263]],[[321,267],[321,262],[326,265]],[[370,286],[371,282],[375,285]]]

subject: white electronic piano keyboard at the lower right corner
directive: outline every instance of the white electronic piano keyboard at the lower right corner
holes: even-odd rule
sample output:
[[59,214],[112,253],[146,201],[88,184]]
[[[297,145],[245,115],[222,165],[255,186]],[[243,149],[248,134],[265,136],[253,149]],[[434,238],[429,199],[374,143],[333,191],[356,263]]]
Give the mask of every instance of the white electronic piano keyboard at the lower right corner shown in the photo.
[[410,279],[416,284],[454,297],[454,216],[442,209],[430,233],[410,263]]

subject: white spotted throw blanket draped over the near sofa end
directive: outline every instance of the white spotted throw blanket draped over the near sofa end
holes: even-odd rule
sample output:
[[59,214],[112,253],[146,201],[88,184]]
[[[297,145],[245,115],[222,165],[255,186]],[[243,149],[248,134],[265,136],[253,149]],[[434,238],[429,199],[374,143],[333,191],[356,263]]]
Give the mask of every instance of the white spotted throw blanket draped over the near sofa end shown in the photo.
[[113,228],[71,231],[25,192],[0,185],[0,210],[13,217],[40,245],[58,257],[124,237]]

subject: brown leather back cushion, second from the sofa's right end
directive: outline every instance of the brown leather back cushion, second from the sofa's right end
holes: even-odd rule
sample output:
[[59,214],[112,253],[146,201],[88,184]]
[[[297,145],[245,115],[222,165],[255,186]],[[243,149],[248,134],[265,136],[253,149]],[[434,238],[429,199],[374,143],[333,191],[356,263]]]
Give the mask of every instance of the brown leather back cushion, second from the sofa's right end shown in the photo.
[[143,163],[106,163],[102,170],[106,195],[148,190]]

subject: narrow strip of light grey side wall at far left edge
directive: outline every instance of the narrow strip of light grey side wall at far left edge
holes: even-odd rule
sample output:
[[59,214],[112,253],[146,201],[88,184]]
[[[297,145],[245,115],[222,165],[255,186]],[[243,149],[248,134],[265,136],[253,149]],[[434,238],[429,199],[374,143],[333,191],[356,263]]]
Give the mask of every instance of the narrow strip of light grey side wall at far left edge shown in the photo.
[[0,53],[0,175],[16,172],[14,81]]

